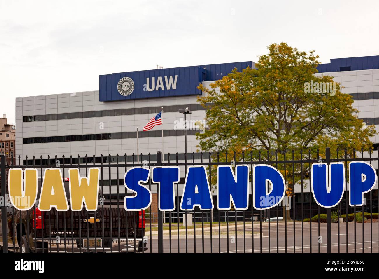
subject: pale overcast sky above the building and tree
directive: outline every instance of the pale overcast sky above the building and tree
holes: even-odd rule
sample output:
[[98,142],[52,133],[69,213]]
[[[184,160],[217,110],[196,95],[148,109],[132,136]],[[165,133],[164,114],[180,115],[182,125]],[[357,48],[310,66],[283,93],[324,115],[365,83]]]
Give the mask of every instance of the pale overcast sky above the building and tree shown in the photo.
[[379,55],[379,1],[0,0],[0,115],[15,98],[99,90],[99,75],[257,61],[287,42]]

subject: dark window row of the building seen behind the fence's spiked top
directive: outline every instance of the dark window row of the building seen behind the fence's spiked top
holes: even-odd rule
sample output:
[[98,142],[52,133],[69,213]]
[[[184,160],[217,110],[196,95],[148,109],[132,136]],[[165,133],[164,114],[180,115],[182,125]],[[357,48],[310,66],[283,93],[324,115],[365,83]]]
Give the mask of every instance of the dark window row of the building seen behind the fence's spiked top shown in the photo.
[[[209,160],[209,153],[207,152],[204,152],[202,155],[200,152],[196,152],[196,153],[190,153],[188,154],[187,156],[187,161],[191,161],[193,159],[195,160],[200,160],[201,158],[203,158],[203,160],[207,159]],[[134,162],[136,163],[138,161],[138,158],[137,156],[133,156],[133,155],[127,155],[126,156],[126,163],[132,163],[134,160]],[[142,156],[139,156],[139,160],[141,162],[143,161],[147,161],[149,162],[156,162],[157,161],[157,154],[151,154],[150,156],[149,155],[142,155]],[[165,161],[168,161],[168,154],[164,154],[164,160]],[[170,154],[170,162],[173,161],[175,162],[176,161],[176,154]],[[178,153],[178,161],[184,161],[184,153]],[[60,166],[63,166],[63,159],[60,158],[60,159],[55,159],[55,158],[50,158],[50,159],[42,159],[42,166],[47,166],[47,165],[50,165],[50,166],[56,166],[56,164],[59,162]],[[79,162],[79,163],[78,163]],[[94,157],[93,156],[89,156],[87,158],[85,157],[73,157],[73,158],[64,158],[64,165],[70,165],[70,164],[73,164],[73,165],[76,165],[76,164],[82,164],[82,165],[85,165],[86,163],[89,165],[89,167],[91,167],[90,165],[93,164],[93,163],[96,163],[96,164],[100,164],[101,162],[103,162],[103,164],[109,164],[110,162],[111,163],[116,163],[117,162],[117,156],[103,156],[103,157]],[[118,156],[118,162],[119,163],[124,163],[125,162],[125,156],[124,155],[120,155]],[[40,166],[41,165],[41,159],[35,159],[34,162],[33,162],[33,159],[28,159],[28,160],[23,160],[23,165],[24,166]]]

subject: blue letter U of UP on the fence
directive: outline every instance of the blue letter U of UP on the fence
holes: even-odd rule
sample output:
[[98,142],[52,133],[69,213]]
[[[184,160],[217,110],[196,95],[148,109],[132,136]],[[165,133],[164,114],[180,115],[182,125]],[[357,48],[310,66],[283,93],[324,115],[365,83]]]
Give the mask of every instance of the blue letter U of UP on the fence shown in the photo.
[[338,205],[345,186],[345,165],[343,162],[312,164],[312,194],[316,203],[324,208]]

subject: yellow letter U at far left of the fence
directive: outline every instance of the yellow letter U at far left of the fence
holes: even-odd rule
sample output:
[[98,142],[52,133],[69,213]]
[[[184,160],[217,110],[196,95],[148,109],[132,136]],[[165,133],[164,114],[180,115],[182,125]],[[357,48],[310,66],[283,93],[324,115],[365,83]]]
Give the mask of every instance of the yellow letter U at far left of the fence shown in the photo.
[[[25,178],[23,178],[25,172]],[[18,210],[34,206],[38,192],[37,169],[9,169],[8,192],[12,205]]]

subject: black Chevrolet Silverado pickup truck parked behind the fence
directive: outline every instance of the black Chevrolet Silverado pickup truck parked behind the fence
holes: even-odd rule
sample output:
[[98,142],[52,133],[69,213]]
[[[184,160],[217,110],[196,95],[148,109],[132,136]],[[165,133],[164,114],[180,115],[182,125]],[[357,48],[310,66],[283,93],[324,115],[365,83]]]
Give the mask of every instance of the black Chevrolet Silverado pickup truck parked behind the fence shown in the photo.
[[[66,181],[67,180],[67,181]],[[41,190],[39,181],[38,197]],[[64,187],[69,199],[68,179]],[[68,201],[70,204],[70,201]],[[146,251],[144,238],[145,212],[124,209],[124,199],[104,199],[99,191],[97,211],[39,211],[35,208],[19,211],[7,207],[8,251],[41,252],[142,252]],[[0,210],[0,221],[2,210]],[[0,250],[3,247],[0,222]]]

